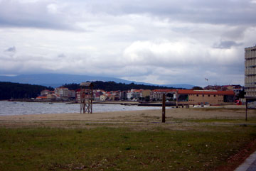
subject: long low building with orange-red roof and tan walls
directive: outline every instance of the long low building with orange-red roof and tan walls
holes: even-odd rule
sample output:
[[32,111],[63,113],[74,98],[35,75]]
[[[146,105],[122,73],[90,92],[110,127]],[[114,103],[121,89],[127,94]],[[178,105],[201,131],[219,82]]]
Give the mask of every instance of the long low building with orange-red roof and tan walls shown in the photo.
[[178,89],[178,104],[233,104],[233,91]]

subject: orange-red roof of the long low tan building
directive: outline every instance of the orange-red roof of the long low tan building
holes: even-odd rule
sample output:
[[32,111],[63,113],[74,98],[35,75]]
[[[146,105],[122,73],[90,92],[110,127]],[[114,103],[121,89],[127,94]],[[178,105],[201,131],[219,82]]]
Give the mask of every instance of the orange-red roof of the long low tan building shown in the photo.
[[218,94],[218,95],[234,95],[233,91],[198,91],[193,89],[178,89],[178,94]]

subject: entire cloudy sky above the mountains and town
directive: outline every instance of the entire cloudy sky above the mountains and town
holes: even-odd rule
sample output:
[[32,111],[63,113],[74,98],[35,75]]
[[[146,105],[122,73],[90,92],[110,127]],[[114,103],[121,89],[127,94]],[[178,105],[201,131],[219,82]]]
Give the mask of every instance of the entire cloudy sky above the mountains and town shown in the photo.
[[244,85],[255,9],[256,0],[0,0],[0,75]]

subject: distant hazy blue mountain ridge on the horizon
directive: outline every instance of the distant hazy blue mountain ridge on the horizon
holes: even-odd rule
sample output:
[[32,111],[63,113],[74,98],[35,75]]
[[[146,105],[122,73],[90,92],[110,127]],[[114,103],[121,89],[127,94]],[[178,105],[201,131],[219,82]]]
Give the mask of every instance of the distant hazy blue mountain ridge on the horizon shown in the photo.
[[175,87],[191,89],[194,87],[190,84],[150,84],[145,82],[134,82],[125,79],[118,79],[114,77],[98,77],[88,75],[63,75],[63,74],[36,74],[36,75],[17,75],[17,76],[0,76],[0,82],[18,82],[23,84],[37,84],[46,87],[60,87],[63,84],[80,83],[86,81],[103,81],[103,82],[117,82],[124,84],[144,84],[144,85],[159,85],[165,87]]

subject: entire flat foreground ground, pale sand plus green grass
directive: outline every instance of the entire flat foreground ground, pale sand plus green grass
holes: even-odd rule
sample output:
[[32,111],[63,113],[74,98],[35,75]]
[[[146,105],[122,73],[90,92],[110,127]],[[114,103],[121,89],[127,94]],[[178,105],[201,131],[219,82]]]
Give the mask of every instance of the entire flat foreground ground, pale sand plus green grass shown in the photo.
[[0,170],[234,170],[256,150],[244,106],[0,116]]

